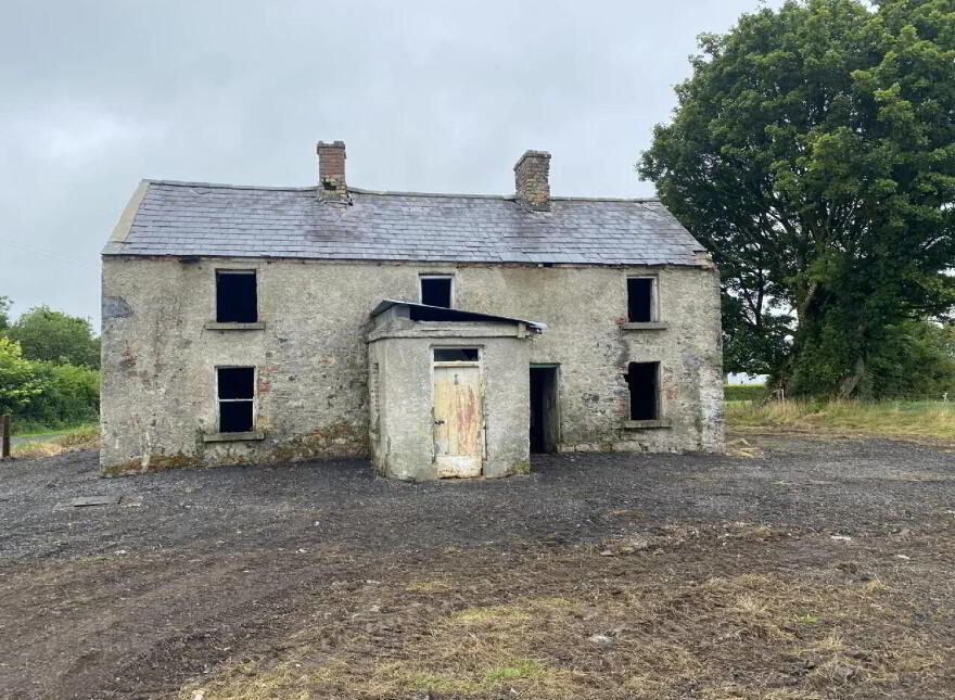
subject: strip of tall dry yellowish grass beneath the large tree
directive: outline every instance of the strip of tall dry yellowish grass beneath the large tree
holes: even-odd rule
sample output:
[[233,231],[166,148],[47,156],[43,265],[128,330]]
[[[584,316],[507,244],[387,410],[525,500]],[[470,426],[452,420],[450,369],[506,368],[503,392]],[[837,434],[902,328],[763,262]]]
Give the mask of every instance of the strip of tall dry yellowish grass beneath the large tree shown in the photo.
[[728,402],[730,430],[782,429],[955,440],[955,403]]

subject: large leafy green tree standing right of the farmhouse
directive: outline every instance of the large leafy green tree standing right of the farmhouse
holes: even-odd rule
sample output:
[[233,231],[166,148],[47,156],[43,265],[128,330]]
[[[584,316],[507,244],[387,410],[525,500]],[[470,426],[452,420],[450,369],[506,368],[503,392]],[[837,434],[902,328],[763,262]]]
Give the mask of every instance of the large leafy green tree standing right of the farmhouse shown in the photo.
[[955,0],[790,0],[700,47],[639,173],[721,267],[727,371],[883,393],[955,303]]

